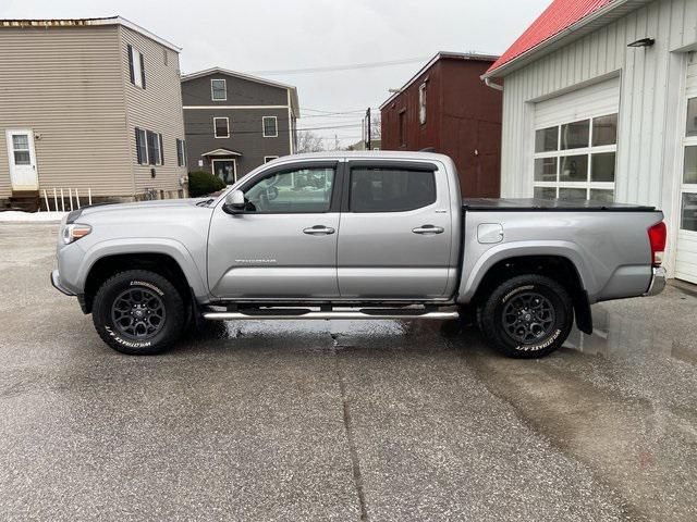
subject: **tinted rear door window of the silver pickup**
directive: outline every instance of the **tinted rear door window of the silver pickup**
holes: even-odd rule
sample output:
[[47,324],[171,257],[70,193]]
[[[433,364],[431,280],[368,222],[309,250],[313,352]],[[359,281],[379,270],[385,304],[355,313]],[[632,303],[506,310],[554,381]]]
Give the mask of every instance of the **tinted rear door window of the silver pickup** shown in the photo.
[[405,212],[436,202],[433,171],[403,167],[351,169],[352,212]]

